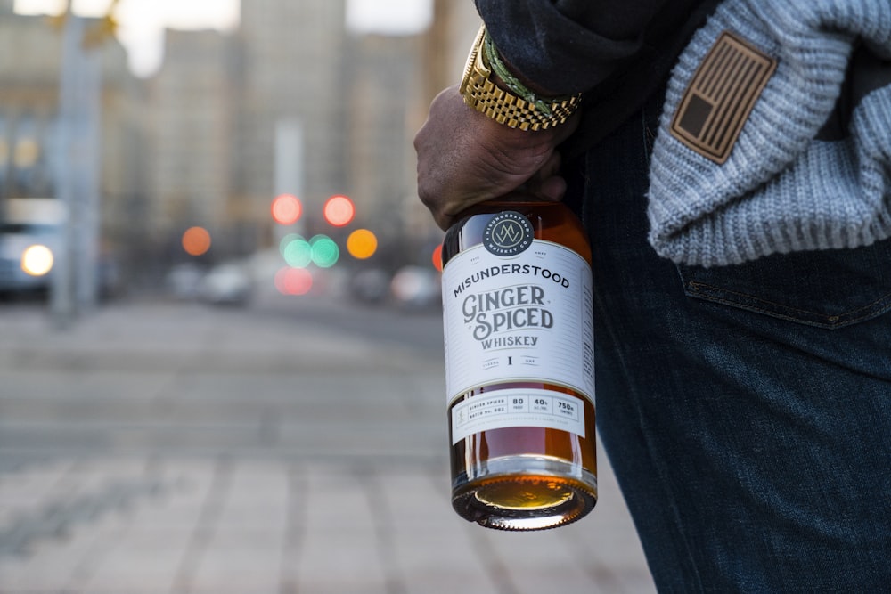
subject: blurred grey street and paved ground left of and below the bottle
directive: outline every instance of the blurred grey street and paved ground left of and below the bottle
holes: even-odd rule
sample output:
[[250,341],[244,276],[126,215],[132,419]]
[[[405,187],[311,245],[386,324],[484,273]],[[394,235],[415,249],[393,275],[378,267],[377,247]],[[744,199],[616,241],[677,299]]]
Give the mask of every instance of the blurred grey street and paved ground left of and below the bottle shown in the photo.
[[441,340],[326,296],[0,304],[0,593],[655,591],[603,452],[575,525],[454,514]]

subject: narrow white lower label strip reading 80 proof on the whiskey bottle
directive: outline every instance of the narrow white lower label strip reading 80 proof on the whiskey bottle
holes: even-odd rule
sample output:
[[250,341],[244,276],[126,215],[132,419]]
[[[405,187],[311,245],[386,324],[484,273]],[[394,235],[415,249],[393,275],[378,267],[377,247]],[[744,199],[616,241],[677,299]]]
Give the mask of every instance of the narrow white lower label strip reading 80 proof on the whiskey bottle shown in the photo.
[[473,396],[452,409],[452,444],[505,427],[560,429],[584,437],[584,402],[548,390],[511,388]]

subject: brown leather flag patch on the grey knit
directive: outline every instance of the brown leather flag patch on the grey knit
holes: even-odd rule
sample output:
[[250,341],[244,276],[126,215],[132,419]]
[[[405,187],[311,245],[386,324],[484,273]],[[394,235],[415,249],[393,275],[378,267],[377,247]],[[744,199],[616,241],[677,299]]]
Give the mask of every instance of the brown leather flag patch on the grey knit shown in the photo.
[[724,31],[684,92],[671,134],[703,157],[723,163],[776,67],[776,60]]

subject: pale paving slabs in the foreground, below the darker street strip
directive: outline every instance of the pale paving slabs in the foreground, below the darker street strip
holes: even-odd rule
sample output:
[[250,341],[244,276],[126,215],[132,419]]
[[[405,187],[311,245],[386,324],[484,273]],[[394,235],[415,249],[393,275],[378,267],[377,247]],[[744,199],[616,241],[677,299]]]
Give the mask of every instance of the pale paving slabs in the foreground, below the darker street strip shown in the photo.
[[[462,521],[428,468],[81,460],[0,474],[0,592],[652,592],[609,471],[575,525]],[[31,492],[32,497],[23,497]]]

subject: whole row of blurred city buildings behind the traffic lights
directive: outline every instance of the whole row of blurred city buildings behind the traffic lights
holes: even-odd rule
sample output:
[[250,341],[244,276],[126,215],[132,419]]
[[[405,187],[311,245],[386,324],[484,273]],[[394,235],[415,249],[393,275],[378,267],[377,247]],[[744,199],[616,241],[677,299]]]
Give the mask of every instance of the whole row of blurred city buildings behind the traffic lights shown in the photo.
[[[415,196],[413,134],[433,89],[460,76],[478,17],[470,2],[435,5],[432,28],[388,37],[347,31],[346,0],[241,0],[232,33],[166,31],[146,80],[108,40],[102,239],[132,264],[169,261],[200,225],[214,257],[247,255],[274,241],[269,205],[287,191],[304,224],[347,194],[384,242],[436,240]],[[17,57],[0,61],[0,198],[53,195],[60,31],[4,2],[0,52]]]

